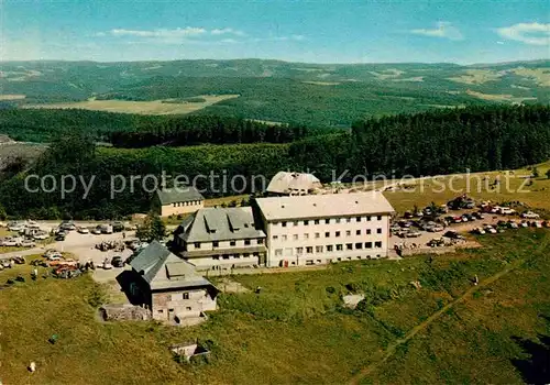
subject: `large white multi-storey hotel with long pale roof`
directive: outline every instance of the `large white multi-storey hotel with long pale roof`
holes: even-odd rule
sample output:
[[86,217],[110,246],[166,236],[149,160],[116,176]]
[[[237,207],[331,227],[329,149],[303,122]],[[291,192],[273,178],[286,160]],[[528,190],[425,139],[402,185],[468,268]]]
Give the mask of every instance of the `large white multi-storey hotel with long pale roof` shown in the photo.
[[270,267],[387,256],[394,208],[382,193],[258,198],[256,204]]

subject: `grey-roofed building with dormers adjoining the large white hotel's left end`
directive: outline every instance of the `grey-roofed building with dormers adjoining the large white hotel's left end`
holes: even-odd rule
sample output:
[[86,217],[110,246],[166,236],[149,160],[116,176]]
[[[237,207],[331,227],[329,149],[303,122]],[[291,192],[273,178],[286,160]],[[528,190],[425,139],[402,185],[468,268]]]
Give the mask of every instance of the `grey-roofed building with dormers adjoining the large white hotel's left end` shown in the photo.
[[200,209],[184,219],[173,245],[197,270],[265,264],[265,233],[251,207]]

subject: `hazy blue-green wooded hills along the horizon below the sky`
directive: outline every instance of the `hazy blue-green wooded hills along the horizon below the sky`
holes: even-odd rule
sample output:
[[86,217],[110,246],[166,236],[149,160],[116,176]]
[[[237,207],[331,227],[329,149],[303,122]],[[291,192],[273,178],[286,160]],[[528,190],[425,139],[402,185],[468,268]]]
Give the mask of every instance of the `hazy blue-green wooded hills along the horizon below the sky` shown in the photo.
[[550,61],[470,66],[262,59],[7,62],[0,64],[0,100],[10,107],[89,98],[174,102],[240,95],[194,113],[349,127],[369,116],[435,108],[550,103]]

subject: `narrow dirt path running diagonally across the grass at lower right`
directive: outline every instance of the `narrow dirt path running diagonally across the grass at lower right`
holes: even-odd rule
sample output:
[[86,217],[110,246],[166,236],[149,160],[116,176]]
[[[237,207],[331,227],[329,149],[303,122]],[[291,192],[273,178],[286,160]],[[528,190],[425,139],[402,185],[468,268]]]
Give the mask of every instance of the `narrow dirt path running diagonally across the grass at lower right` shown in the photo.
[[[549,238],[547,235],[544,238],[544,240],[542,241],[541,245],[537,249],[537,251],[532,254],[531,257],[536,257],[539,254],[541,254],[541,252],[548,246],[548,243],[549,243],[548,240],[549,240]],[[460,304],[460,302],[464,301],[465,299],[470,298],[479,289],[484,288],[484,287],[493,284],[494,282],[498,280],[499,278],[502,278],[503,276],[505,276],[506,274],[508,274],[509,272],[512,272],[513,270],[515,270],[516,267],[521,265],[524,262],[525,262],[525,260],[515,261],[514,263],[506,266],[506,268],[502,270],[501,272],[496,273],[495,275],[492,275],[491,277],[481,282],[477,286],[472,286],[471,288],[469,288],[466,292],[464,292],[464,294],[462,294],[460,297],[454,299],[452,302],[447,304],[444,307],[442,307],[441,309],[439,309],[438,311],[432,314],[430,317],[428,317],[425,321],[418,323],[416,327],[410,329],[405,334],[404,338],[398,339],[398,340],[394,341],[393,343],[391,343],[387,346],[386,352],[384,353],[382,359],[373,362],[369,366],[363,367],[358,374],[355,374],[350,380],[349,383],[350,384],[359,384],[361,382],[361,380],[365,378],[367,375],[373,373],[377,367],[380,367],[383,363],[385,363],[389,358],[392,358],[395,354],[395,352],[399,345],[407,343],[418,332],[425,330],[428,326],[430,326],[433,321],[436,321],[439,317],[441,317],[442,314],[444,314],[446,311],[448,311],[449,309],[454,307],[457,304]]]

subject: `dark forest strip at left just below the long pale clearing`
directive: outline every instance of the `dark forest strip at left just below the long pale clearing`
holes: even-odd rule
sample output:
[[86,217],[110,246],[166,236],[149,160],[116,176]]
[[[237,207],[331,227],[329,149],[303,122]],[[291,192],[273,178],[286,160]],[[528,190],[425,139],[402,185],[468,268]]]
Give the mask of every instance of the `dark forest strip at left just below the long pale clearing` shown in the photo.
[[88,110],[0,109],[0,133],[21,142],[50,142],[75,131],[125,148],[202,143],[288,143],[338,132],[304,124],[267,124],[212,116],[141,116]]

